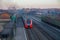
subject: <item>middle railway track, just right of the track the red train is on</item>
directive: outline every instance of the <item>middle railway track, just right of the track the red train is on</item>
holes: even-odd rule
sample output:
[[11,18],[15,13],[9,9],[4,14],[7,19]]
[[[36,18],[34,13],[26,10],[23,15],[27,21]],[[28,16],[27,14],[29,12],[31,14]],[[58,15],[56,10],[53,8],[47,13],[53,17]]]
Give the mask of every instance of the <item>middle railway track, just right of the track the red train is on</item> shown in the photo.
[[38,25],[34,25],[35,27],[35,31],[37,32],[37,34],[40,36],[40,40],[54,40],[54,38],[52,38],[44,29],[42,29],[40,26]]

